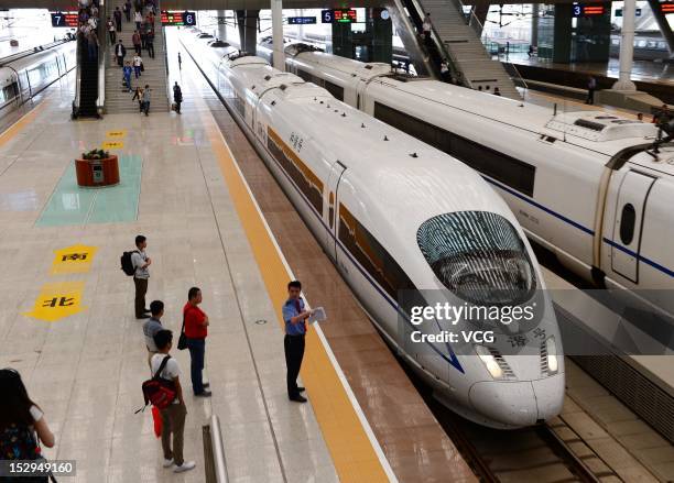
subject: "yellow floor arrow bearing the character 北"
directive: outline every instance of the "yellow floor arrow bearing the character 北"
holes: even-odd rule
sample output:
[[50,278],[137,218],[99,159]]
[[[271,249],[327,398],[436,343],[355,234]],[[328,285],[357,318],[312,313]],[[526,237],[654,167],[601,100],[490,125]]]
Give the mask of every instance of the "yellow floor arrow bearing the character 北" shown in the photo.
[[83,290],[84,282],[44,284],[35,298],[33,310],[23,315],[47,322],[73,316],[86,308],[80,305]]

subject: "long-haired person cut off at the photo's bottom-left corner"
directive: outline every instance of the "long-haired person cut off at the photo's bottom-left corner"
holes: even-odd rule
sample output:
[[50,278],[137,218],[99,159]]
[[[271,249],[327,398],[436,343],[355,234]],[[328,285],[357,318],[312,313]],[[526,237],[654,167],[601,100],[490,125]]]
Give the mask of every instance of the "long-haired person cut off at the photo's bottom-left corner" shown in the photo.
[[53,448],[54,433],[42,409],[29,397],[19,372],[0,370],[0,460],[41,459],[40,443]]

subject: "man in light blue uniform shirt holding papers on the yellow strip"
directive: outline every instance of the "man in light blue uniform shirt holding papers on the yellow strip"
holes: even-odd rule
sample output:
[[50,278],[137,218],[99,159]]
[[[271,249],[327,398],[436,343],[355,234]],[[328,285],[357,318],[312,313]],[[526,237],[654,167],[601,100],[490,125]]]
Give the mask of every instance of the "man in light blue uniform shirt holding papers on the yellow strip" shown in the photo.
[[285,350],[285,366],[287,367],[287,397],[290,400],[306,403],[306,397],[300,393],[304,387],[297,386],[297,376],[304,358],[304,336],[306,333],[305,320],[312,315],[312,310],[304,309],[304,300],[300,296],[302,284],[293,281],[287,284],[287,300],[283,304],[283,321],[285,322],[285,338],[283,349]]

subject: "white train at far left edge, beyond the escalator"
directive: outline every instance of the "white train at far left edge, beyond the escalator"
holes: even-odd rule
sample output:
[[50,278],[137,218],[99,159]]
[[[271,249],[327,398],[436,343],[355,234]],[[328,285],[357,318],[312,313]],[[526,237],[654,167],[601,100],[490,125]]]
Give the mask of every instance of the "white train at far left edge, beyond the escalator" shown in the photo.
[[0,59],[0,117],[73,70],[76,51],[76,42],[65,42]]

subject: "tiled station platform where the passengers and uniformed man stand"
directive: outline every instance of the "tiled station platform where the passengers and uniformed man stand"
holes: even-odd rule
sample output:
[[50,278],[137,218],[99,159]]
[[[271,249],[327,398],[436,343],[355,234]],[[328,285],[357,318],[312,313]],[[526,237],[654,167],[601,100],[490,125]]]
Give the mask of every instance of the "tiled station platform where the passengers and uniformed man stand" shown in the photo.
[[[44,454],[76,461],[59,481],[202,482],[202,427],[214,414],[232,482],[476,481],[187,58],[184,78],[171,66],[182,116],[73,122],[69,94],[52,89],[0,135],[0,366],[17,369],[43,409],[56,436]],[[73,160],[94,147],[120,156],[122,184],[110,191],[72,178]],[[150,409],[134,414],[150,373],[119,257],[138,233],[153,260],[146,300],[165,303],[182,369],[184,452],[196,469],[181,474],[162,468]],[[285,394],[280,308],[293,277],[328,314],[309,329],[304,405]],[[211,321],[208,399],[192,396],[189,355],[175,349],[195,285]]]

